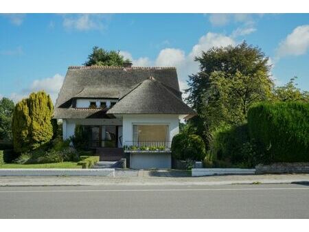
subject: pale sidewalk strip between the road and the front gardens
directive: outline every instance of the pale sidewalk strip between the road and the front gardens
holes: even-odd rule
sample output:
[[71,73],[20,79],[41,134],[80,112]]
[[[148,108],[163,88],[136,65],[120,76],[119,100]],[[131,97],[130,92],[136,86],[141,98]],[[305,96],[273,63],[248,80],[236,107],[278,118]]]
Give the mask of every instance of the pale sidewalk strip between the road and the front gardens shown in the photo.
[[[170,175],[170,176],[169,176]],[[182,173],[182,175],[184,175]],[[264,174],[185,177],[158,174],[156,171],[135,171],[131,176],[1,176],[0,186],[56,185],[233,185],[265,183],[308,183],[309,174]]]

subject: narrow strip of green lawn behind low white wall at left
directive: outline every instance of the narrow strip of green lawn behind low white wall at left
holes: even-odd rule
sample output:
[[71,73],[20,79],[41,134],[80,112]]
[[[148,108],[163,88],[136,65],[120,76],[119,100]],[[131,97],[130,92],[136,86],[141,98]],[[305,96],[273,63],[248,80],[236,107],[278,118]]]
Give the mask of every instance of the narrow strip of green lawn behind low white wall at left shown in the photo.
[[3,165],[0,164],[0,168],[82,168],[82,165],[77,165],[76,162],[38,164],[5,163]]

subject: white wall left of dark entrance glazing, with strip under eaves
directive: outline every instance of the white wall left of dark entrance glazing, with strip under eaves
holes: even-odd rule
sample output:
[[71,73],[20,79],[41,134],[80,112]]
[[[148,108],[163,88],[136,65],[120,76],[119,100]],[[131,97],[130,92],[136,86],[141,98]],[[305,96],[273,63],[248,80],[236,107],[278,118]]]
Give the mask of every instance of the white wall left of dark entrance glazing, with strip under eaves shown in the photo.
[[121,126],[122,119],[63,119],[62,120],[63,139],[69,139],[69,137],[74,135],[76,125]]

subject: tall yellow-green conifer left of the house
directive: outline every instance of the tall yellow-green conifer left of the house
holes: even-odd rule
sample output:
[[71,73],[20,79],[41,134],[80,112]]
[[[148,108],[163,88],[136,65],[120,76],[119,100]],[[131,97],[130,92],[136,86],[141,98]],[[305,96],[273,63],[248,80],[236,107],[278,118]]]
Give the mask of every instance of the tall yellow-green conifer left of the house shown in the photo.
[[52,139],[53,110],[52,100],[44,91],[31,93],[16,104],[12,119],[15,152],[35,150]]

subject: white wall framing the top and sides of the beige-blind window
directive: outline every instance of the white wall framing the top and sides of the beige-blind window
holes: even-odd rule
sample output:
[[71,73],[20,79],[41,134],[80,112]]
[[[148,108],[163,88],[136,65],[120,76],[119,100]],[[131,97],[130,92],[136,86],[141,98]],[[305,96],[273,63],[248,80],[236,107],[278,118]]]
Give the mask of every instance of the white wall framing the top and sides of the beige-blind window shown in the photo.
[[179,133],[179,115],[123,115],[122,136],[125,145],[126,141],[133,141],[133,125],[168,125],[169,141]]

